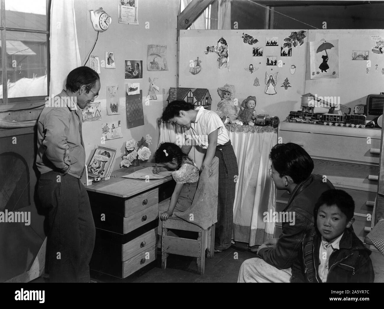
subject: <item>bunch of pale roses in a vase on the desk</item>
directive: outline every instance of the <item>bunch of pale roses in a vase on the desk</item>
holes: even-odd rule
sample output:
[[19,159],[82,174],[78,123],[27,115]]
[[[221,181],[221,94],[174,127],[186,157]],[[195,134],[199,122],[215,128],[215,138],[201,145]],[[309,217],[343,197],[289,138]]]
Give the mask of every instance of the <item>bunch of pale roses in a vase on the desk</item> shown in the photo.
[[151,156],[151,150],[148,148],[149,145],[152,145],[152,137],[149,134],[142,137],[138,142],[134,139],[128,140],[125,143],[127,155],[122,156],[120,167],[138,166],[140,165],[140,160],[148,160]]

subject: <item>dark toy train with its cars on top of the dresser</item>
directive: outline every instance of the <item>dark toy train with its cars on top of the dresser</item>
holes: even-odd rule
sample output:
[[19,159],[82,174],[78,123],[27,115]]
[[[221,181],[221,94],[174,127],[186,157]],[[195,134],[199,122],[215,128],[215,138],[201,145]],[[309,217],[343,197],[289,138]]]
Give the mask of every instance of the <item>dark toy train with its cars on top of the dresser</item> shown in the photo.
[[321,114],[321,113],[310,113],[310,112],[290,112],[286,121],[289,122],[306,122],[306,123],[322,123],[324,125],[332,126],[346,126],[364,128],[374,128],[375,123],[373,121],[366,121],[365,115],[338,115],[338,114]]

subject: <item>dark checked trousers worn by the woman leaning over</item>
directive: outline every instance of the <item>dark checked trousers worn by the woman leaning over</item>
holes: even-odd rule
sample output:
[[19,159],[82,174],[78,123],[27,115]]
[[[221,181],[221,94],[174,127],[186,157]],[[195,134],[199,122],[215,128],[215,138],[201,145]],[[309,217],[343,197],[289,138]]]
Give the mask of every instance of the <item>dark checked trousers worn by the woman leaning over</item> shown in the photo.
[[218,145],[215,157],[219,159],[215,249],[226,250],[231,246],[233,203],[238,177],[237,159],[231,141]]

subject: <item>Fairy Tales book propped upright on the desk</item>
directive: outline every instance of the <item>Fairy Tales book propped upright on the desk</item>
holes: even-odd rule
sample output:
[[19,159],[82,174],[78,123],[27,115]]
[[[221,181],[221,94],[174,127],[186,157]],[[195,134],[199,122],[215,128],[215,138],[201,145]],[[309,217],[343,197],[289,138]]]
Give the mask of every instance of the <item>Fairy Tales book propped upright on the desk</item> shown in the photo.
[[108,177],[113,169],[116,156],[116,148],[98,145],[89,161],[88,176]]

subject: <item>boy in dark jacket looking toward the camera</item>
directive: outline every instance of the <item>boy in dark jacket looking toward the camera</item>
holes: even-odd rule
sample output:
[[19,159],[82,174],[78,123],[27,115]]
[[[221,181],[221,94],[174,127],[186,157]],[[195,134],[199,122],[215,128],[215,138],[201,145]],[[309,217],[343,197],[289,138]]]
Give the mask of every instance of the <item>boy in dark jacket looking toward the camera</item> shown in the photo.
[[324,192],[314,207],[316,224],[306,235],[291,282],[373,282],[367,249],[353,231],[354,202],[343,190]]

